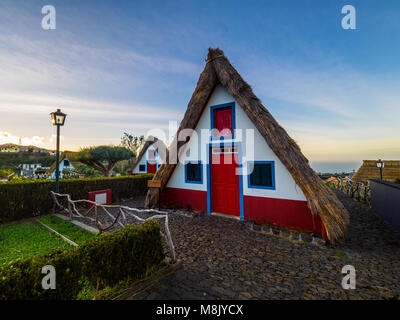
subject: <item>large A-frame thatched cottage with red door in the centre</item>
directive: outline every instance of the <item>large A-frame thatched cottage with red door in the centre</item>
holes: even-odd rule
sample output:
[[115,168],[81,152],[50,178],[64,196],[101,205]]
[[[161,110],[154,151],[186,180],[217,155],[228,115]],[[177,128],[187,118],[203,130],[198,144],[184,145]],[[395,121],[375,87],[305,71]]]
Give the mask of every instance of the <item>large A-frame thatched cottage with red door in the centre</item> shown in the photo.
[[[184,129],[194,129],[190,139]],[[161,203],[322,234],[333,244],[344,239],[346,209],[222,50],[209,49],[174,139],[154,177]],[[157,203],[150,189],[146,206]]]

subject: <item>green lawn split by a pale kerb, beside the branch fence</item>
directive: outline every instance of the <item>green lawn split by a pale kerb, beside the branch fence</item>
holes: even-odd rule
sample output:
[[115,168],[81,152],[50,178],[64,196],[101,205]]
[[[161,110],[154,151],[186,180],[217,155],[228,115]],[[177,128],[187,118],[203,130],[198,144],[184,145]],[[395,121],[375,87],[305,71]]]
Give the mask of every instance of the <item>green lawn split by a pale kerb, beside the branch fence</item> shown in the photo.
[[[78,244],[95,236],[54,216],[44,216],[40,220]],[[68,248],[71,248],[70,244],[37,222],[10,223],[0,226],[0,265],[17,258],[37,256],[54,249]]]

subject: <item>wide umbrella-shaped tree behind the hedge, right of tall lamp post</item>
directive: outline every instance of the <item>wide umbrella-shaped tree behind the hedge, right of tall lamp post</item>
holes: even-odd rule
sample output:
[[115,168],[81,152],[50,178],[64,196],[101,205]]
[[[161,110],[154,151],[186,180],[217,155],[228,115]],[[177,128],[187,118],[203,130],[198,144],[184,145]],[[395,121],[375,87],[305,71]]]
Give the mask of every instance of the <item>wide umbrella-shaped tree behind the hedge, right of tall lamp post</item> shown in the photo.
[[76,159],[110,177],[114,166],[122,160],[132,158],[133,153],[125,147],[99,146],[81,149]]

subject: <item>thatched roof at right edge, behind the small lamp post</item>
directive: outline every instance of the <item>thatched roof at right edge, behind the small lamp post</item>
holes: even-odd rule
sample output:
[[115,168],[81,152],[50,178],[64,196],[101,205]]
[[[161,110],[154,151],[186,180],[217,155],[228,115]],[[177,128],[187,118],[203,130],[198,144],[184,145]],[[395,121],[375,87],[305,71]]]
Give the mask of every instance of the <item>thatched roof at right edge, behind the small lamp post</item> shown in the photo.
[[[363,160],[363,164],[351,178],[352,181],[368,183],[369,179],[380,179],[378,160]],[[400,179],[400,160],[382,160],[385,167],[382,169],[382,179],[394,182]]]

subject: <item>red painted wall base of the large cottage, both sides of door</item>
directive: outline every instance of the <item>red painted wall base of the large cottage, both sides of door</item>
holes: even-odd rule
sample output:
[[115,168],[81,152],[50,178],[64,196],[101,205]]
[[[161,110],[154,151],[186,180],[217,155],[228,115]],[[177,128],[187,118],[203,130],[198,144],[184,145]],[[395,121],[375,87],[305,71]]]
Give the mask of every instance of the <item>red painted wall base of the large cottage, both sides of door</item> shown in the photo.
[[[161,194],[161,204],[207,212],[207,192],[166,188]],[[245,220],[313,232],[327,240],[321,218],[311,213],[307,201],[243,196],[243,207]]]

